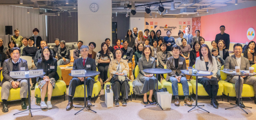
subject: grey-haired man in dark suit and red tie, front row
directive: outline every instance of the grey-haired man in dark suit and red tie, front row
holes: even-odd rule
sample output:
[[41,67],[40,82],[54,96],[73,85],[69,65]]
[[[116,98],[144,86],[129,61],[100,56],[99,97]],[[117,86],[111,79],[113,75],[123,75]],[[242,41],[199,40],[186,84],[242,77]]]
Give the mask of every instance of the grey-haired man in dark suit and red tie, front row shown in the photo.
[[[95,60],[88,57],[88,46],[81,46],[80,53],[82,54],[81,58],[78,58],[74,61],[73,70],[97,70]],[[87,86],[87,106],[91,107],[91,98],[92,98],[92,90],[93,90],[93,84],[94,84],[94,77],[86,77],[86,86]],[[71,110],[73,106],[73,96],[76,91],[76,86],[84,84],[84,77],[73,77],[70,80],[69,84],[69,92],[68,92],[68,105],[66,107],[66,110]]]

